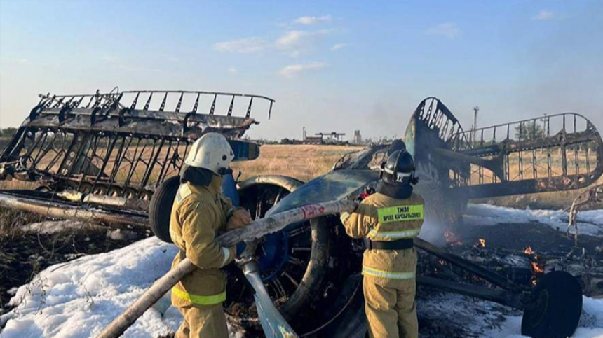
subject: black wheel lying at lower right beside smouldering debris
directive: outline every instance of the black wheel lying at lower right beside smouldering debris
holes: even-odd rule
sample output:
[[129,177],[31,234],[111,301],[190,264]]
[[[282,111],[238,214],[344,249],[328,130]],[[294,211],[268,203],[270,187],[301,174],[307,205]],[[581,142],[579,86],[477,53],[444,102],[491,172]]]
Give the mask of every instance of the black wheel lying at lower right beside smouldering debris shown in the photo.
[[582,288],[567,272],[550,272],[538,280],[522,318],[522,335],[564,338],[574,334],[582,312]]

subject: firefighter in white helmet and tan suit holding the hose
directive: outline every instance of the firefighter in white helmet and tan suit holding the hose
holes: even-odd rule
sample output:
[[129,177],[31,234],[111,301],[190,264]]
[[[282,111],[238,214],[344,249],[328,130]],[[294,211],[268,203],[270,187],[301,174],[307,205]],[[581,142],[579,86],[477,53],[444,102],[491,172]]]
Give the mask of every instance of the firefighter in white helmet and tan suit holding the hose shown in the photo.
[[172,304],[184,316],[176,338],[228,337],[222,309],[226,274],[220,268],[232,262],[236,249],[220,246],[215,238],[251,222],[248,211],[234,208],[222,195],[222,175],[230,171],[233,157],[222,134],[208,133],[195,141],[184,160],[170,219],[170,237],[180,249],[172,268],[186,257],[198,269],[172,288]]

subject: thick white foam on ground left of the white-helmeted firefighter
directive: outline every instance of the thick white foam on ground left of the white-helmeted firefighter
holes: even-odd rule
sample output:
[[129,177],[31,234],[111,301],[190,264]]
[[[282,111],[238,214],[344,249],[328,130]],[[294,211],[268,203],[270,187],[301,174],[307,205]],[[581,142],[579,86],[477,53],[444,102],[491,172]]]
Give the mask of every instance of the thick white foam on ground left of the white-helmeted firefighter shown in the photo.
[[[3,338],[93,337],[170,269],[177,248],[156,237],[125,248],[53,265],[21,286]],[[124,337],[174,332],[182,316],[170,295],[149,309]]]

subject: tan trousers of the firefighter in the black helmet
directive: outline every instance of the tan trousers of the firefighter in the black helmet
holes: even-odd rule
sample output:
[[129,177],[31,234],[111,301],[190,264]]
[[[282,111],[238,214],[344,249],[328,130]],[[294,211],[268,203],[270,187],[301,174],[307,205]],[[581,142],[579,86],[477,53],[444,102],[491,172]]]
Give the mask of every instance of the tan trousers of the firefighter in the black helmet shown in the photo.
[[418,338],[414,279],[384,287],[363,279],[365,312],[371,338]]

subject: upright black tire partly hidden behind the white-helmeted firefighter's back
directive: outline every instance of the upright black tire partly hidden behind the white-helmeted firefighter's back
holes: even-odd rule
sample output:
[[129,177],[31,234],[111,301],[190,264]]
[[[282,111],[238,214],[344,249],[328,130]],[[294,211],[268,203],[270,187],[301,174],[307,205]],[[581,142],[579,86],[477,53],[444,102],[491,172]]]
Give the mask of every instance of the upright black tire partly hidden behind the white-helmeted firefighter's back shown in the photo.
[[149,226],[158,239],[172,243],[170,237],[170,217],[176,193],[180,186],[180,177],[172,176],[163,181],[155,190],[149,204]]

